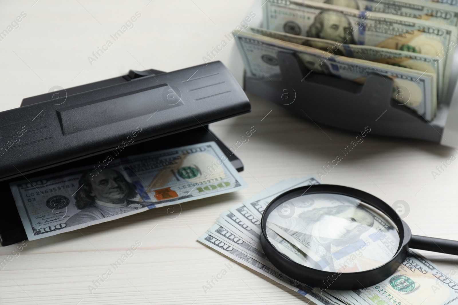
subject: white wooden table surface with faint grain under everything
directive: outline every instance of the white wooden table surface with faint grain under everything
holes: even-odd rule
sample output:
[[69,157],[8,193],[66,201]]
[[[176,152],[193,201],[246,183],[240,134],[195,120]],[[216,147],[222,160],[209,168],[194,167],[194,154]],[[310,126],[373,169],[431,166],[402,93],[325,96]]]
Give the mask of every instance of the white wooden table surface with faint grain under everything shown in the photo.
[[[52,86],[76,86],[123,75],[129,69],[171,71],[201,64],[207,51],[245,18],[254,3],[94,2],[0,4],[0,30],[22,11],[27,13],[20,26],[0,41],[0,110],[18,107],[23,97],[48,92]],[[90,65],[87,57],[136,11],[142,16],[135,26]],[[241,61],[233,42],[216,59],[241,80]],[[249,142],[236,151],[245,165],[241,175],[248,188],[181,204],[176,219],[165,208],[152,209],[81,233],[27,241],[20,255],[0,270],[0,303],[307,304],[300,294],[239,265],[207,293],[202,288],[229,262],[196,241],[221,212],[279,180],[316,174],[355,137],[318,128],[261,98],[249,98],[251,113],[211,125],[227,145],[255,126]],[[410,209],[404,220],[414,234],[458,239],[458,161],[436,179],[431,174],[452,154],[458,156],[457,151],[437,144],[370,134],[322,182],[360,188],[389,204],[404,200]],[[91,291],[93,281],[135,242],[141,246],[133,256]],[[0,260],[15,255],[14,249],[15,245],[1,247]],[[423,253],[444,272],[458,273],[457,257]]]

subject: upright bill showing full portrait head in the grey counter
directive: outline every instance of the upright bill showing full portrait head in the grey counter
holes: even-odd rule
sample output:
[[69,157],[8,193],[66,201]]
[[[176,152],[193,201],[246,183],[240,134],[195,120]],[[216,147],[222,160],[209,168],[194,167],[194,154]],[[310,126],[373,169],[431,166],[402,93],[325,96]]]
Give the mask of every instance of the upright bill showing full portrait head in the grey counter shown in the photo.
[[410,51],[444,60],[442,96],[448,88],[458,28],[403,16],[358,11],[310,1],[268,0],[264,28],[339,43]]

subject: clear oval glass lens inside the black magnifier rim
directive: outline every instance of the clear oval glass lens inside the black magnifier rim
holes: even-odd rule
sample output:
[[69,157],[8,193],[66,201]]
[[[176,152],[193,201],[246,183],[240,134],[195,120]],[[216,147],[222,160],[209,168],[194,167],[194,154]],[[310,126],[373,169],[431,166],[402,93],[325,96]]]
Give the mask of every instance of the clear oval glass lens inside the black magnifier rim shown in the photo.
[[359,272],[389,262],[398,250],[396,225],[359,199],[312,193],[280,203],[266,234],[284,256],[310,268]]

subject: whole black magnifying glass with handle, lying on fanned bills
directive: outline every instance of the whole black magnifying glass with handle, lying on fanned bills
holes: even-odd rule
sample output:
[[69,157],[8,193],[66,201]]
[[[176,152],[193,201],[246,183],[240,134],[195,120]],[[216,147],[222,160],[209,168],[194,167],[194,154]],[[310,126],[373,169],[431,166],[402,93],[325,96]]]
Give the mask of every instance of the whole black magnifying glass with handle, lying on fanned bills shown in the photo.
[[261,246],[272,264],[300,283],[362,289],[396,272],[409,247],[458,255],[458,241],[412,235],[381,199],[338,185],[289,190],[261,219]]

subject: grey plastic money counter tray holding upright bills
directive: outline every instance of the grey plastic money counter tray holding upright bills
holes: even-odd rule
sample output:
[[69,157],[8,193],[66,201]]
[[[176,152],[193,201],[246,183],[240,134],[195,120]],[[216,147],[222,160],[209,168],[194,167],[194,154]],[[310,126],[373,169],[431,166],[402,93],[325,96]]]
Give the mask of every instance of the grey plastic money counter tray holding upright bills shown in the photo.
[[450,104],[439,104],[436,117],[428,122],[392,98],[396,90],[393,80],[382,75],[369,75],[365,83],[359,85],[310,71],[297,54],[286,51],[278,52],[278,65],[281,80],[245,75],[245,91],[315,123],[357,133],[369,126],[371,134],[423,139],[458,147],[456,90]]

